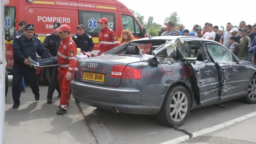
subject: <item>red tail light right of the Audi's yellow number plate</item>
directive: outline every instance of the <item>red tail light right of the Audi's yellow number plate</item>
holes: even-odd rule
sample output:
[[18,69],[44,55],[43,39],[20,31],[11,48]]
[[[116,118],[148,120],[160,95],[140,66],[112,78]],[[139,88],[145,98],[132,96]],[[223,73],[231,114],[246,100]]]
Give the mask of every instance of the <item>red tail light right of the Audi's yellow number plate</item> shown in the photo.
[[124,65],[114,65],[110,74],[114,78],[140,79],[140,70]]

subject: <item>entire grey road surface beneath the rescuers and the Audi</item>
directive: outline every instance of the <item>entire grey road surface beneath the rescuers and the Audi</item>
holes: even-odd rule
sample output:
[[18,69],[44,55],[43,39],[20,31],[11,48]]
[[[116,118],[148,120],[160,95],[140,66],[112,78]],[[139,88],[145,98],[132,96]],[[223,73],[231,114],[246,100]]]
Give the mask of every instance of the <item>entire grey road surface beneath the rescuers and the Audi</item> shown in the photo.
[[[10,76],[9,76],[9,80]],[[161,125],[154,115],[114,113],[70,101],[68,114],[56,115],[59,98],[54,93],[53,104],[46,104],[47,86],[40,85],[40,100],[36,102],[28,84],[22,93],[21,106],[12,109],[12,84],[6,97],[5,144],[13,143],[82,143],[107,144],[255,144],[256,104],[241,100],[191,110],[180,129]],[[79,105],[79,106],[78,106]],[[81,112],[81,110],[82,112]],[[90,109],[90,110],[89,110]],[[84,117],[83,117],[83,115]],[[94,117],[94,118],[92,118]],[[239,119],[239,120],[238,120]],[[98,126],[98,127],[97,127]],[[101,141],[102,140],[102,141]]]

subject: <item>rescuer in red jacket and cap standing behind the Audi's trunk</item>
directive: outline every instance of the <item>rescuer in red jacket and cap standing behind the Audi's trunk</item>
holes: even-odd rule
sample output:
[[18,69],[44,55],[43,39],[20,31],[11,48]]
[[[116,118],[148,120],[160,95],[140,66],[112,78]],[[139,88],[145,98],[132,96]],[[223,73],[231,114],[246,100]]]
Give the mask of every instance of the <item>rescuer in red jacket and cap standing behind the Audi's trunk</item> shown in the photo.
[[120,42],[116,36],[116,32],[108,28],[108,19],[101,18],[98,23],[100,23],[100,33],[98,34],[100,45],[100,53],[98,53],[98,55],[100,55],[103,52],[119,46]]

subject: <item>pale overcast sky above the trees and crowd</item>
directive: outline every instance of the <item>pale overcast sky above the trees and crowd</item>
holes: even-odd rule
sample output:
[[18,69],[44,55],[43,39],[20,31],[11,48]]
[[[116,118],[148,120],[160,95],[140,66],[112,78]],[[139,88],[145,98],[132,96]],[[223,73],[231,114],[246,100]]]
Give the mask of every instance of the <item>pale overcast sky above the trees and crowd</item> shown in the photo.
[[[253,0],[119,0],[128,8],[144,16],[147,22],[153,16],[153,22],[164,24],[164,19],[177,12],[185,29],[192,30],[195,24],[204,27],[205,22],[213,26],[224,26],[230,22],[239,26],[244,20],[247,24],[256,23]],[[240,6],[243,3],[244,6]]]

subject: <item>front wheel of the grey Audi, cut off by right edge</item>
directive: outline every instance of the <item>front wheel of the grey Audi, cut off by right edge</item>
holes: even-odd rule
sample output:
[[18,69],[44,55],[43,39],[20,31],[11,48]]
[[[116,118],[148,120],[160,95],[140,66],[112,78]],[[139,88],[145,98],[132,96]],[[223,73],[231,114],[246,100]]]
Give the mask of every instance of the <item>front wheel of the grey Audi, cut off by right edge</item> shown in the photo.
[[256,103],[256,75],[252,76],[252,80],[249,83],[247,94],[244,97],[244,100],[248,104]]

